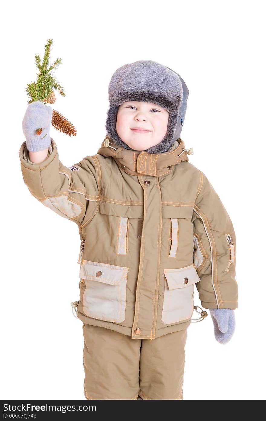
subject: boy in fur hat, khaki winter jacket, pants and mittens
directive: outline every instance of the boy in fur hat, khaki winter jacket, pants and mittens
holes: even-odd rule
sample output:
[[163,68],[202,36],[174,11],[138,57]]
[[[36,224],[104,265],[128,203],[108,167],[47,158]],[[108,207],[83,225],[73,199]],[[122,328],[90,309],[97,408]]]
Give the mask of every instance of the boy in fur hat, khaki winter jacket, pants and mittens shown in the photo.
[[187,97],[182,78],[155,61],[120,67],[109,84],[107,136],[70,168],[50,138],[52,109],[37,101],[24,116],[24,182],[79,226],[89,400],[183,399],[195,284],[216,339],[234,332],[235,233],[179,138]]

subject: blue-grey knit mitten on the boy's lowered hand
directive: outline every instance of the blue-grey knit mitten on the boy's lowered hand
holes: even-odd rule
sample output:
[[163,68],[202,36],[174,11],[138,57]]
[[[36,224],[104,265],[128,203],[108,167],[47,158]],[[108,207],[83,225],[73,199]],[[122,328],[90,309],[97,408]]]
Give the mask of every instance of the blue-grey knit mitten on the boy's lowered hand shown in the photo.
[[235,330],[234,310],[209,309],[214,325],[214,336],[220,344],[230,341]]

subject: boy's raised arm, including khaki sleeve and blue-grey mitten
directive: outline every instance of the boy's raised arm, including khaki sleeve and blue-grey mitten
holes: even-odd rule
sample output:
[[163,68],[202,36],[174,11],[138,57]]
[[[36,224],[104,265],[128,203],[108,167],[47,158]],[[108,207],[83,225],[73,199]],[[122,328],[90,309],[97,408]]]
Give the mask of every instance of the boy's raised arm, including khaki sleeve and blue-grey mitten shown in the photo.
[[[42,102],[27,107],[22,122],[26,142],[19,149],[24,183],[43,205],[81,224],[88,200],[96,202],[100,194],[97,159],[86,157],[69,168],[63,165],[50,138],[51,119],[51,107]],[[40,136],[38,128],[42,128]]]

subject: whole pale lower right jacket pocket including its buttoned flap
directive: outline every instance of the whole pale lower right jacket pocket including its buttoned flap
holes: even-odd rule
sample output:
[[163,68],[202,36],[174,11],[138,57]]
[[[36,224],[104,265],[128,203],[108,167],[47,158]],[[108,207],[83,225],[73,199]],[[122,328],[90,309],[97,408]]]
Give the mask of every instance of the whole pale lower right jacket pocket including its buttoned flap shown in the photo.
[[166,325],[190,319],[194,311],[194,285],[200,281],[194,264],[164,269],[162,322]]

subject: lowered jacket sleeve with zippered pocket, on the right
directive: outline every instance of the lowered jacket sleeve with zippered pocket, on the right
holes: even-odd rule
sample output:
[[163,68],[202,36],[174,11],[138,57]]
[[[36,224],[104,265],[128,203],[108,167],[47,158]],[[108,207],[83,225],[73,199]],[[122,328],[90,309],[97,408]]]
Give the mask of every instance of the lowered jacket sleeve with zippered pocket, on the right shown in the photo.
[[204,173],[193,208],[194,265],[196,283],[206,309],[236,309],[236,238],[233,224],[219,196]]

